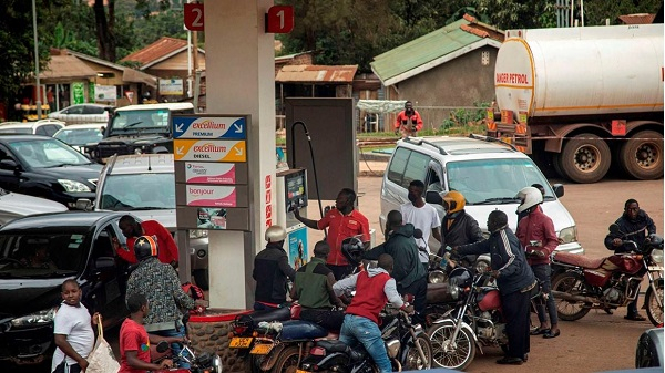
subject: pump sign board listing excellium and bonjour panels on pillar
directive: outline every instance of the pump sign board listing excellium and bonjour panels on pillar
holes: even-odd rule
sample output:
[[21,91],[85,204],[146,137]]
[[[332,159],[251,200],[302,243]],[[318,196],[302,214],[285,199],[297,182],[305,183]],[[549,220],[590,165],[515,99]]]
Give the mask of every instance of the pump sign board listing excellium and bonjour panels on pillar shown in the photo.
[[250,116],[173,115],[178,229],[249,230]]

